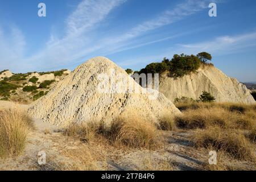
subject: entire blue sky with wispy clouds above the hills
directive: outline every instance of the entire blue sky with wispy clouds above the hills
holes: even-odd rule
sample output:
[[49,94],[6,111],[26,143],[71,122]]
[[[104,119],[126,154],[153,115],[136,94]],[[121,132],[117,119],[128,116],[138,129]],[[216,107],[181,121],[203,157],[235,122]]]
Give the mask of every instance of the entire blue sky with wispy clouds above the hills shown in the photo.
[[256,81],[255,17],[250,0],[0,0],[0,70],[74,69],[94,56],[139,70],[207,51],[228,76]]

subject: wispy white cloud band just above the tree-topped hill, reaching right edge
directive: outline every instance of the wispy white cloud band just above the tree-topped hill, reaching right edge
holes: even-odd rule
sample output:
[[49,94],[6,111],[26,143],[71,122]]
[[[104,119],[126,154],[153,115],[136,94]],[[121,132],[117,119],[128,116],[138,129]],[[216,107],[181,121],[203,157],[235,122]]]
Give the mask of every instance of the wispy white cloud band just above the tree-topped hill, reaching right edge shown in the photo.
[[140,56],[136,59],[123,60],[119,65],[123,67],[134,68],[138,63],[144,65],[152,61],[160,61],[163,57],[172,57],[177,53],[185,53],[187,55],[196,55],[199,52],[206,51],[214,56],[228,55],[230,53],[244,52],[248,48],[256,47],[256,32],[249,32],[234,36],[220,36],[206,42],[194,44],[177,44],[174,47],[169,47],[162,52],[154,55]]

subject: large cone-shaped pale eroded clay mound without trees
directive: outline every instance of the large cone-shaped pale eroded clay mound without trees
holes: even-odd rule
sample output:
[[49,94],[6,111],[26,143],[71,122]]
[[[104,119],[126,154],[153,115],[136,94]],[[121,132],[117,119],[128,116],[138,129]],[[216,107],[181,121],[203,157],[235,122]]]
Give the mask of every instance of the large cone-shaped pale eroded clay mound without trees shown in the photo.
[[[126,82],[139,92],[130,92],[123,86]],[[32,104],[28,111],[35,118],[59,126],[96,120],[109,122],[131,110],[152,121],[157,121],[166,109],[173,114],[180,113],[163,94],[159,93],[152,100],[151,96],[156,93],[147,92],[109,59],[95,57],[58,82],[45,97]]]

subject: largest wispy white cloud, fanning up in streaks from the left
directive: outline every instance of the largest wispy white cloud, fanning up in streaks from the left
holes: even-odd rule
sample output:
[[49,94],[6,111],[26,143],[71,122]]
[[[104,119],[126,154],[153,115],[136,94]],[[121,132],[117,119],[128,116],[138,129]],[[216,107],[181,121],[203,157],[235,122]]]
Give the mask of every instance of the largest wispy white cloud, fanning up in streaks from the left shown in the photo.
[[[207,8],[207,2],[209,2],[207,0],[185,0],[174,8],[165,10],[155,18],[131,27],[130,30],[119,32],[119,34],[112,32],[114,36],[109,36],[108,34],[99,35],[98,32],[102,32],[100,30],[101,22],[106,20],[115,7],[122,5],[125,1],[126,0],[82,0],[73,13],[65,20],[65,34],[62,38],[52,34],[42,50],[34,53],[34,55],[30,57],[24,57],[24,38],[20,35],[21,33],[16,30],[16,48],[15,46],[9,46],[4,54],[8,56],[10,56],[10,54],[16,55],[17,59],[13,61],[13,63],[20,64],[20,66],[15,67],[20,71],[45,71],[47,69],[66,67],[69,64],[76,64],[82,59],[87,59],[92,56],[108,55],[109,53],[175,38],[179,35],[169,36],[166,39],[151,40],[149,42],[137,42],[137,39],[135,39],[148,31],[166,26],[195,14]],[[8,51],[13,52],[7,54],[6,52]],[[1,53],[3,53],[3,51],[0,51],[0,55]],[[10,61],[8,64],[9,63]]]

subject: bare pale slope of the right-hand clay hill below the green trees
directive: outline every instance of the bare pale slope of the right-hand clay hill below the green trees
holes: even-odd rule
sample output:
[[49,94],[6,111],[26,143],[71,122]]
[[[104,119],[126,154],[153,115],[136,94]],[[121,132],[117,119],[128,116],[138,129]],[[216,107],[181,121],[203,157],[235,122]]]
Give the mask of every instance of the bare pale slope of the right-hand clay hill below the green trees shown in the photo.
[[172,102],[175,98],[181,97],[198,100],[203,91],[207,91],[216,98],[217,102],[255,103],[245,85],[211,65],[204,65],[195,73],[176,80],[166,74],[160,77],[159,92]]

